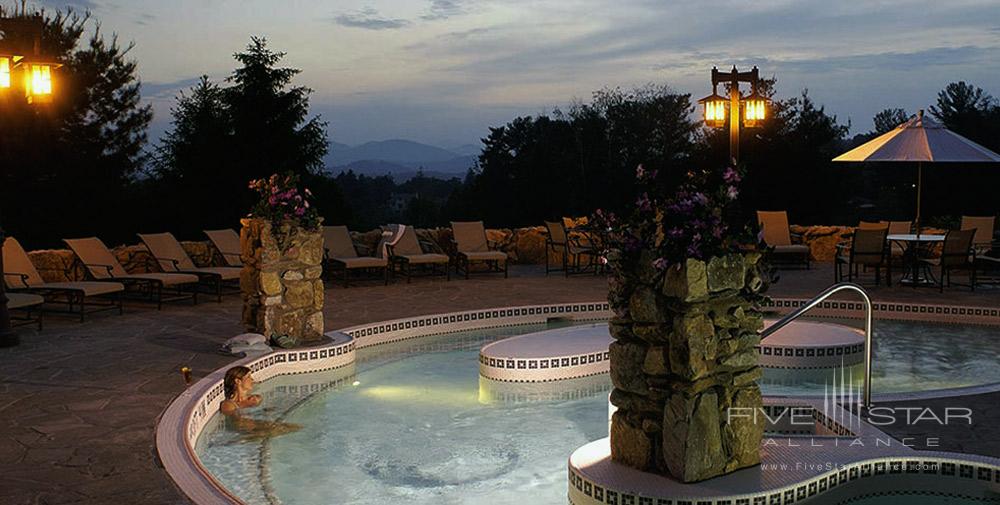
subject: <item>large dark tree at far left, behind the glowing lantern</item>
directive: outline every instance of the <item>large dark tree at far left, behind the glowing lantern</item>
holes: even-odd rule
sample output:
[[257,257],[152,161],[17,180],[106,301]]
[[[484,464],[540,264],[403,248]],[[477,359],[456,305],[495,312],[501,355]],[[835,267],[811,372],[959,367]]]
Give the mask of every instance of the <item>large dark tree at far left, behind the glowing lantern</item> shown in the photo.
[[[0,114],[0,187],[17,188],[0,200],[4,227],[29,247],[98,230],[109,240],[133,237],[136,222],[123,209],[139,203],[129,190],[145,161],[152,110],[140,102],[132,45],[105,39],[99,27],[84,38],[90,16],[69,10],[0,16],[40,21],[41,54],[63,64],[52,103],[11,99]],[[4,43],[30,48],[30,26],[8,26]]]

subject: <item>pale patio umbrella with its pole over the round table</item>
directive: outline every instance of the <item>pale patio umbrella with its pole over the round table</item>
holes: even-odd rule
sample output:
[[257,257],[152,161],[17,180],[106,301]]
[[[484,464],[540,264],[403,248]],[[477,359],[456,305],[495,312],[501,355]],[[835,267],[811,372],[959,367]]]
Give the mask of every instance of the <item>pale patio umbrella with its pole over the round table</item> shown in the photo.
[[892,131],[837,156],[833,161],[916,161],[917,234],[924,163],[1000,163],[1000,154],[945,128],[921,110]]

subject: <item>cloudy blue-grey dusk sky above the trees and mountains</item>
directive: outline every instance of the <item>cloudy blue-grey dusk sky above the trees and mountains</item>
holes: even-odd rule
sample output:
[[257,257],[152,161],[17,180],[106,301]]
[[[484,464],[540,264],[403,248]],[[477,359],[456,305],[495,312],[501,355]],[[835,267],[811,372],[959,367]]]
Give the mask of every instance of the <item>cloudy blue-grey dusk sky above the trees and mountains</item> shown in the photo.
[[[29,3],[30,5],[30,3]],[[222,79],[265,36],[331,140],[475,144],[489,126],[565,108],[602,87],[667,83],[697,99],[713,65],[778,78],[871,129],[952,81],[1000,95],[997,0],[45,0],[89,9],[136,44],[151,137],[199,75]]]

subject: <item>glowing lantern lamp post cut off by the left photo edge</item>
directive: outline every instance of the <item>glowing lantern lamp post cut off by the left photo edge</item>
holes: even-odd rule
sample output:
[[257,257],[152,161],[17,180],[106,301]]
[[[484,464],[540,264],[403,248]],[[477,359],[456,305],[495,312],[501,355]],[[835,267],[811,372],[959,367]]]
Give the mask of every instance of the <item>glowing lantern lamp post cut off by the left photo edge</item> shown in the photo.
[[[0,104],[12,100],[15,89],[22,89],[24,99],[32,105],[52,100],[53,70],[61,65],[41,56],[43,28],[41,16],[21,19],[0,17],[0,31],[5,37],[0,39]],[[10,31],[21,35],[31,34],[31,48],[17,47],[16,43],[6,40]],[[5,239],[3,227],[0,226],[0,249],[3,248]],[[0,347],[15,346],[20,342],[11,328],[6,291],[3,254],[0,254]]]

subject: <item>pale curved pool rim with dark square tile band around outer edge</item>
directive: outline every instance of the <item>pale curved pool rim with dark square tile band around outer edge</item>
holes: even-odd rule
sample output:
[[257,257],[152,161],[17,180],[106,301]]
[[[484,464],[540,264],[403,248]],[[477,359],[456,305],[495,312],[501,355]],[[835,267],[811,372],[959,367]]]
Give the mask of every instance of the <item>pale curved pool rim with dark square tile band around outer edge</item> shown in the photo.
[[[806,301],[805,298],[774,298],[765,303],[763,308],[779,313],[788,312]],[[1000,308],[897,302],[874,302],[873,308],[874,315],[881,319],[1000,326]],[[827,300],[811,315],[852,318],[859,317],[863,309],[862,302]],[[411,338],[540,324],[553,319],[601,320],[608,319],[611,315],[610,306],[606,301],[494,307],[438,313],[349,326],[328,332],[327,336],[331,341],[317,347],[276,350],[263,356],[242,358],[206,375],[167,406],[156,425],[154,436],[157,456],[173,483],[193,503],[243,504],[239,497],[226,489],[202,466],[194,452],[198,436],[222,402],[222,379],[225,370],[230,367],[248,366],[258,381],[264,381],[278,375],[319,372],[347,366],[354,362],[357,349]],[[986,391],[984,388],[992,389]],[[970,392],[966,392],[967,390]],[[942,392],[945,393],[944,397],[950,397],[996,390],[1000,390],[1000,383],[942,390]],[[925,391],[896,396],[876,394],[875,400],[898,401],[938,397],[934,393],[936,392]]]

